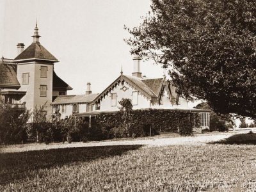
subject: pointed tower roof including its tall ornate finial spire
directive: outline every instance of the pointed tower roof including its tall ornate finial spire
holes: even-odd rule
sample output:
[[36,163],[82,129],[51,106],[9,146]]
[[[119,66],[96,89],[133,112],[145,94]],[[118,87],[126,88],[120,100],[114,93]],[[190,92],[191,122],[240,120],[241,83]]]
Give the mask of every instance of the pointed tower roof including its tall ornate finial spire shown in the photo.
[[33,43],[29,45],[27,49],[22,51],[14,60],[15,62],[22,62],[22,61],[30,61],[30,60],[44,60],[49,61],[51,63],[58,62],[58,60],[51,54],[51,52],[47,51],[43,47],[43,45],[40,44],[39,38],[40,35],[38,33],[38,27],[37,27],[37,21],[36,26],[34,29],[34,35],[33,37]]

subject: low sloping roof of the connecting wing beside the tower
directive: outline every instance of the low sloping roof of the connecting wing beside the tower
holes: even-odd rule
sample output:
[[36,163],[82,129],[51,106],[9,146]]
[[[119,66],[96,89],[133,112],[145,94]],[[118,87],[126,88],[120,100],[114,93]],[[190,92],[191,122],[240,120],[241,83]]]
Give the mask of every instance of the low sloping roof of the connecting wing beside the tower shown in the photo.
[[75,103],[89,103],[92,102],[98,94],[90,95],[61,95],[56,97],[52,105],[57,104],[75,104]]

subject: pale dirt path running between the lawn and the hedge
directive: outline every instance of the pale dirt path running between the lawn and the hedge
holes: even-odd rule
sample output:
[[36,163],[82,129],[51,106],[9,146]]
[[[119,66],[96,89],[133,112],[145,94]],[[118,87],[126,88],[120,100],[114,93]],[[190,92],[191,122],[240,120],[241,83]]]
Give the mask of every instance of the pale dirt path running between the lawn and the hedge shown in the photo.
[[6,152],[25,152],[29,150],[47,150],[52,148],[67,148],[67,147],[92,147],[92,146],[110,146],[110,145],[145,145],[145,147],[156,147],[166,145],[204,145],[212,141],[224,140],[233,134],[241,133],[228,132],[228,133],[215,133],[215,134],[196,134],[189,137],[176,137],[176,138],[143,138],[136,140],[114,140],[114,141],[92,141],[88,143],[51,143],[45,145],[44,143],[33,143],[26,145],[8,145],[1,146],[0,153]]

